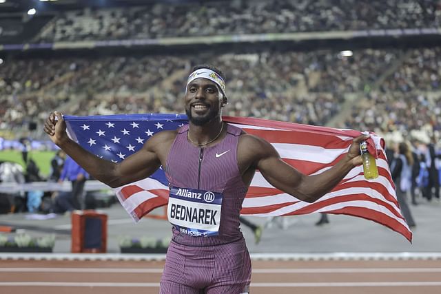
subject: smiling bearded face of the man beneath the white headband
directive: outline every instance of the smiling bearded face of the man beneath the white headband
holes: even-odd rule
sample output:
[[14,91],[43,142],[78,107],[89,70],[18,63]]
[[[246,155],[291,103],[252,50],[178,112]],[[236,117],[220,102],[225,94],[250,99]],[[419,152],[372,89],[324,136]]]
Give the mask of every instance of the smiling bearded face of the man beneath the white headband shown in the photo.
[[187,86],[185,113],[194,125],[205,125],[220,116],[226,98],[216,83],[207,78],[196,78]]

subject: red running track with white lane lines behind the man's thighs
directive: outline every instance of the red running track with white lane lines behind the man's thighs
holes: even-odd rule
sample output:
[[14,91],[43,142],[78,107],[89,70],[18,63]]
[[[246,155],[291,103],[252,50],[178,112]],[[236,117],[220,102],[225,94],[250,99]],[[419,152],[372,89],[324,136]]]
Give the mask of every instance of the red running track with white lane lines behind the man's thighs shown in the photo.
[[[0,260],[0,293],[158,293],[163,264]],[[441,260],[254,260],[250,293],[440,294]]]

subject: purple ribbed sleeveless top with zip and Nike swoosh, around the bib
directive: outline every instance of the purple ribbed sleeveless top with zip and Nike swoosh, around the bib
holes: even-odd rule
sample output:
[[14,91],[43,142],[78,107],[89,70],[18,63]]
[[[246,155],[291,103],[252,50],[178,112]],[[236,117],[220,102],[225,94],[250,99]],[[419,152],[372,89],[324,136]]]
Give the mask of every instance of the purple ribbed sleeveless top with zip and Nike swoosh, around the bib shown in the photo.
[[[196,147],[187,140],[188,125],[178,129],[170,149],[165,175],[171,186],[223,193],[219,235],[193,237],[172,229],[172,240],[188,246],[226,244],[243,238],[239,229],[239,214],[247,187],[238,168],[237,147],[241,129],[227,125],[227,134],[220,143]],[[199,171],[200,169],[200,171]]]

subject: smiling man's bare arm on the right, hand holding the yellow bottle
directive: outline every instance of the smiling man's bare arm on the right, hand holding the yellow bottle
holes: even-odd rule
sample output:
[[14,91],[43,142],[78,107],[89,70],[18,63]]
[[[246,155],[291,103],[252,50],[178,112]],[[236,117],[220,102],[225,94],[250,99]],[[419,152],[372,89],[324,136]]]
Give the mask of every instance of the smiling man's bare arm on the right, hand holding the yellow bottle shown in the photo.
[[254,154],[254,168],[258,169],[271,185],[302,201],[314,202],[331,191],[353,167],[362,164],[358,146],[367,138],[369,136],[355,138],[345,158],[331,169],[314,176],[302,174],[285,163],[276,149],[261,138],[245,135],[240,144],[247,146],[243,151],[245,158]]

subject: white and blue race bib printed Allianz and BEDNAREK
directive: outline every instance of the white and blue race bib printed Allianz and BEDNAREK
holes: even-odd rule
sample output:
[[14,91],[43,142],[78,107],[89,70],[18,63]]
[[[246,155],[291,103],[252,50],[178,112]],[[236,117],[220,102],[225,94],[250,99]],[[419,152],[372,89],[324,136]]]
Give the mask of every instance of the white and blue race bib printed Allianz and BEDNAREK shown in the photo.
[[167,217],[180,231],[194,237],[219,234],[222,193],[170,187]]

